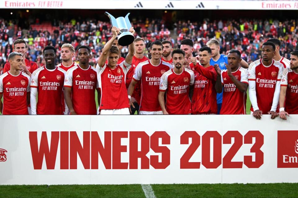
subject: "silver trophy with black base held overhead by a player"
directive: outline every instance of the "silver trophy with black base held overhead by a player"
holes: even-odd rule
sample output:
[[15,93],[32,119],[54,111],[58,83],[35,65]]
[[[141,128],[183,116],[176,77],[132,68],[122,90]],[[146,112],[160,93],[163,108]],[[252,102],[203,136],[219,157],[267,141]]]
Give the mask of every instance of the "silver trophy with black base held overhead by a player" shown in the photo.
[[131,27],[130,21],[128,19],[128,13],[125,17],[120,16],[117,19],[113,15],[111,15],[108,12],[105,12],[105,15],[107,15],[110,20],[112,26],[115,26],[120,29],[120,33],[118,36],[118,43],[121,46],[128,46],[134,41],[134,36],[131,32],[129,32],[129,29]]

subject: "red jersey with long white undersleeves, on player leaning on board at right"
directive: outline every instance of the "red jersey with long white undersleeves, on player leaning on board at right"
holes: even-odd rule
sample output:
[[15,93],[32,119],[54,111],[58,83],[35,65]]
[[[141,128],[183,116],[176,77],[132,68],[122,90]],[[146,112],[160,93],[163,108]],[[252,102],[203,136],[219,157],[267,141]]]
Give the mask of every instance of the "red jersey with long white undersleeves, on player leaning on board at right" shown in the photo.
[[283,65],[274,60],[269,66],[265,66],[262,59],[249,65],[249,97],[252,112],[258,109],[263,113],[276,111],[283,69]]

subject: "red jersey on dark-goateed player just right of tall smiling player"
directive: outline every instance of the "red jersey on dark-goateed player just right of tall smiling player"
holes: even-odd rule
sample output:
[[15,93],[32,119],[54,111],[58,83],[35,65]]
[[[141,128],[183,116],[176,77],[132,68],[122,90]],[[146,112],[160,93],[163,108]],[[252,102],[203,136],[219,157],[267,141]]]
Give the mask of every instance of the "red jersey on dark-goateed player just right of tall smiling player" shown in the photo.
[[190,114],[191,101],[189,87],[194,84],[195,75],[190,69],[176,74],[174,69],[165,72],[160,78],[160,91],[166,91],[166,109],[169,114]]

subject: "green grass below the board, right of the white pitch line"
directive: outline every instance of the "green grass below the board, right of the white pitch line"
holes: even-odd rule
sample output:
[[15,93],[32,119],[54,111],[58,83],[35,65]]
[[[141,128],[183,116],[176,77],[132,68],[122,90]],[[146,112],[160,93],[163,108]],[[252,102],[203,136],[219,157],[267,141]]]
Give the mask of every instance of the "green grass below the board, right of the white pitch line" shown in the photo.
[[152,185],[156,197],[298,197],[298,183]]

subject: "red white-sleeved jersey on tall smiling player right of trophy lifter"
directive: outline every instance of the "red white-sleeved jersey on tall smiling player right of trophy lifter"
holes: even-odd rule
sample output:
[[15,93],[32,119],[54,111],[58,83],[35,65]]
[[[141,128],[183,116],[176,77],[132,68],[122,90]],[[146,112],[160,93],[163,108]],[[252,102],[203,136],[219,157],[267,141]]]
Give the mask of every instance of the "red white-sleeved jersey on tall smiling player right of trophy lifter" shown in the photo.
[[158,102],[160,77],[173,66],[161,61],[159,65],[152,65],[150,60],[138,64],[133,74],[133,80],[141,80],[140,111],[161,111]]

